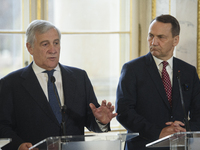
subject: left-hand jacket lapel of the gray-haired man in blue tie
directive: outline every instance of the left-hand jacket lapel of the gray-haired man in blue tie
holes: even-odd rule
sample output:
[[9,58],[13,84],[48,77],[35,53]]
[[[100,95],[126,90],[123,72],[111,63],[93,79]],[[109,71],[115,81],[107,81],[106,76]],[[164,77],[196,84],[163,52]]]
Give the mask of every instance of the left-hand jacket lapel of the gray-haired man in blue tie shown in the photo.
[[27,66],[21,74],[21,77],[24,78],[22,85],[32,96],[33,100],[39,105],[39,107],[44,111],[44,113],[52,119],[56,124],[59,125],[51,106],[49,105],[47,98],[40,86],[40,83],[32,69],[32,63]]

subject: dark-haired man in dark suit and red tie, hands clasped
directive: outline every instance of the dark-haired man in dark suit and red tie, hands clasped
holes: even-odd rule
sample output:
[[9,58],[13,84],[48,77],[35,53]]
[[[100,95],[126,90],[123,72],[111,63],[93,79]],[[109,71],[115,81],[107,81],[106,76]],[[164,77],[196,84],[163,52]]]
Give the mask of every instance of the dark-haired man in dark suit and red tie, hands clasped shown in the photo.
[[[178,72],[190,129],[200,130],[200,83],[196,69],[173,57],[179,32],[180,26],[174,17],[156,17],[150,24],[147,38],[150,52],[122,68],[115,106],[117,120],[128,133],[139,133],[126,142],[126,150],[148,149],[145,148],[147,143],[186,131]],[[166,68],[164,63],[168,64]]]

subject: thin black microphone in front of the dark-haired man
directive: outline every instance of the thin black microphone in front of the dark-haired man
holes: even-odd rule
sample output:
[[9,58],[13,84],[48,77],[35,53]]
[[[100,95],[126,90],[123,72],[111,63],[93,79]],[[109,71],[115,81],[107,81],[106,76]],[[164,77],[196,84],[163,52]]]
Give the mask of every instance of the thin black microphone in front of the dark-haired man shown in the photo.
[[185,103],[183,101],[183,93],[182,93],[181,81],[180,81],[180,70],[178,70],[177,79],[178,79],[179,92],[180,92],[180,97],[181,97],[181,104],[182,104],[183,113],[184,113],[185,128],[186,128],[186,131],[191,131],[189,121],[188,121],[188,116],[186,115],[186,111],[185,111]]

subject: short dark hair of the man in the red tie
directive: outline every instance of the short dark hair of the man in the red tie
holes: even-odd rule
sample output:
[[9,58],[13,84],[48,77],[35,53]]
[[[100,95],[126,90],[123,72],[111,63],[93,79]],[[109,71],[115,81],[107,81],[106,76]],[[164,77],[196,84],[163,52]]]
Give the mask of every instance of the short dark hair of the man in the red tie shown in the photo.
[[172,37],[175,37],[175,36],[180,34],[180,25],[179,25],[178,20],[175,17],[173,17],[171,15],[160,15],[160,16],[157,16],[155,19],[153,19],[151,21],[151,23],[154,20],[158,21],[158,22],[162,22],[162,23],[171,23],[171,25],[172,25],[172,29],[171,29]]

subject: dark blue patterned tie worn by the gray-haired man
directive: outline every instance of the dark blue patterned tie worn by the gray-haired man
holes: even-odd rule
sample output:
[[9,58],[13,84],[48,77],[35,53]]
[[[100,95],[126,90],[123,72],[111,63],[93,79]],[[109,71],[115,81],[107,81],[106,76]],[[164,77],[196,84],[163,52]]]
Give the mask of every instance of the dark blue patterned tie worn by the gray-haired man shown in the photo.
[[[54,87],[53,87],[54,83],[51,82],[51,77],[53,76],[54,71],[55,70],[53,69],[51,71],[46,70],[44,72],[48,74],[48,85],[47,85],[47,87],[48,87],[49,104],[50,104],[59,124],[60,124],[62,122],[62,114],[61,114],[61,109],[60,109],[60,106],[59,106],[60,100],[59,100],[57,88],[55,86],[55,92],[56,92],[55,93]],[[59,101],[56,98],[56,94],[58,96]]]

